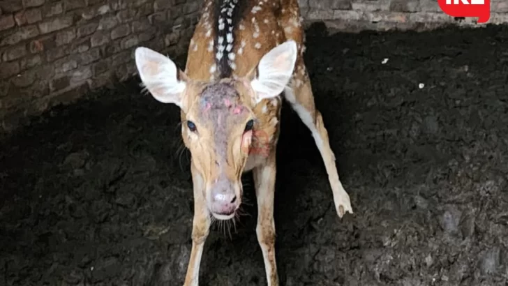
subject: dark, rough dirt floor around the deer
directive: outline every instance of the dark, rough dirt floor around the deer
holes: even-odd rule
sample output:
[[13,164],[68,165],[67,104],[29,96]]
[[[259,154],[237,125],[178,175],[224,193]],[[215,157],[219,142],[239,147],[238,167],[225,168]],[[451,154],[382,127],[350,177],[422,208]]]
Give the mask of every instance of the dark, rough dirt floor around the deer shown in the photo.
[[[354,215],[336,216],[311,134],[285,105],[281,284],[506,285],[508,28],[317,25],[306,61]],[[177,107],[139,91],[57,107],[2,142],[0,285],[183,284],[188,152]],[[214,228],[200,285],[266,285],[245,193],[250,216],[231,235]]]

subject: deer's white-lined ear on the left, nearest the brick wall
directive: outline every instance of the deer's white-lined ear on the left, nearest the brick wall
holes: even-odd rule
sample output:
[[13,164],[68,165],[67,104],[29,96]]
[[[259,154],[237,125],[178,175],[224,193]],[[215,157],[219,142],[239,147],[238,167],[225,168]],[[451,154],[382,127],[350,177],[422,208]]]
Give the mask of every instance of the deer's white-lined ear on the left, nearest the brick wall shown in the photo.
[[179,79],[180,70],[174,62],[147,47],[135,51],[137,73],[151,95],[161,103],[173,103],[183,108],[182,95],[186,82]]

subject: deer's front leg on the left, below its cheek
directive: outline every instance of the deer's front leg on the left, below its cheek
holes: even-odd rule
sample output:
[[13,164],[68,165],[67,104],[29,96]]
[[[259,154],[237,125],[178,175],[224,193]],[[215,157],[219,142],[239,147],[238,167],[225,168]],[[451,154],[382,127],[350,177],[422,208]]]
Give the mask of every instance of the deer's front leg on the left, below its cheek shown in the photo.
[[193,165],[191,166],[194,189],[194,218],[193,218],[193,247],[191,258],[187,266],[184,286],[198,286],[200,276],[201,257],[203,255],[204,241],[207,240],[210,230],[210,213],[203,196],[203,181]]

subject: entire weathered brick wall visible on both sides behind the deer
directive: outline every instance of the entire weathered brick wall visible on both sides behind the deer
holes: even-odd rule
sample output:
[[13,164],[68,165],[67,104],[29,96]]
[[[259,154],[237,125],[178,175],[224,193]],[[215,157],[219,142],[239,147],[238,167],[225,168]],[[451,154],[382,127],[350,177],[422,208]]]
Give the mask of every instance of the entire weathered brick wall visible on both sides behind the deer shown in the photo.
[[[508,1],[491,0],[491,23]],[[431,29],[457,22],[437,0],[299,0],[306,22],[331,28]],[[0,0],[0,133],[135,73],[139,45],[185,54],[202,0]]]

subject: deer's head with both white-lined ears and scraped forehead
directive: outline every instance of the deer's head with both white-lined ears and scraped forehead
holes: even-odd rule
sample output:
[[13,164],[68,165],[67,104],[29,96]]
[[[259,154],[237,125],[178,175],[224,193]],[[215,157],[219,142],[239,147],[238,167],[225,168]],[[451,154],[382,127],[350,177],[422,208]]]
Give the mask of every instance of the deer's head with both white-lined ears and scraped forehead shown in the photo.
[[181,134],[215,218],[230,219],[239,208],[241,174],[248,159],[245,146],[251,145],[256,123],[253,107],[283,92],[296,59],[297,45],[288,40],[267,52],[244,77],[198,82],[162,54],[136,49],[144,86],[156,100],[177,105],[184,113]]

